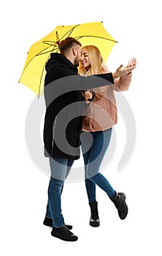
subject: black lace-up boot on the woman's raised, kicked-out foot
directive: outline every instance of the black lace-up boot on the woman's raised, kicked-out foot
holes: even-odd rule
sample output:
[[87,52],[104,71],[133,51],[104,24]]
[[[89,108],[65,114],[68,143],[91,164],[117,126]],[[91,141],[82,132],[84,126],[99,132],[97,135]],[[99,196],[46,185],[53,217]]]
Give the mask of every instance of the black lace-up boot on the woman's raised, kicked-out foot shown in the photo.
[[124,193],[116,193],[113,198],[110,198],[117,208],[120,219],[126,219],[128,214],[128,206],[126,204],[126,195]]

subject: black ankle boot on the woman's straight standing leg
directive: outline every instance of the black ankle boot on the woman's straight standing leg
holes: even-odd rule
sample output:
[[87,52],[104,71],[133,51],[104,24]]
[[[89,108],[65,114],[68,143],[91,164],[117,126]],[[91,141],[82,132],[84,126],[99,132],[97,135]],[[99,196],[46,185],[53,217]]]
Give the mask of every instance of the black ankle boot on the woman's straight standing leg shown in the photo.
[[90,226],[99,227],[99,212],[98,212],[98,202],[89,202],[90,206]]

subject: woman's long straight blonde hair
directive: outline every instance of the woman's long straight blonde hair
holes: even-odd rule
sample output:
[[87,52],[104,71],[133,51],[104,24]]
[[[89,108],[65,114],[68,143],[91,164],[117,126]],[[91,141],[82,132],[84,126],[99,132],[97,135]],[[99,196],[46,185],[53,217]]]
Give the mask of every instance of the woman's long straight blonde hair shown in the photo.
[[[85,69],[84,67],[82,67],[82,65],[79,65],[79,74],[80,75],[97,75],[97,74],[101,74],[102,69],[103,69],[103,59],[101,56],[101,53],[99,51],[99,48],[97,48],[94,45],[86,45],[84,46],[82,49],[86,50],[86,52],[88,53],[88,58],[90,60],[90,67],[89,69]],[[96,99],[101,99],[101,97],[103,97],[103,95],[99,94],[99,92],[103,92],[103,89],[95,89],[95,98]],[[98,91],[98,92],[96,92]]]

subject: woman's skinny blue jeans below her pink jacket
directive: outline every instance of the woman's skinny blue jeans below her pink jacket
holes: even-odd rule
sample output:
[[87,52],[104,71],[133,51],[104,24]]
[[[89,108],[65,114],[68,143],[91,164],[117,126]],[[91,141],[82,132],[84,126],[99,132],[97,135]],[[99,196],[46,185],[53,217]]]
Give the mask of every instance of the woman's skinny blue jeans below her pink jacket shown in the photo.
[[[93,136],[91,147],[88,133],[89,132],[84,132],[84,135],[82,135],[81,146],[85,162],[85,187],[88,194],[88,200],[89,202],[96,201],[96,185],[112,198],[115,196],[115,190],[109,184],[107,178],[99,173],[99,167],[109,146],[112,128],[99,132],[90,132]],[[89,150],[86,152],[87,148],[89,148]]]

